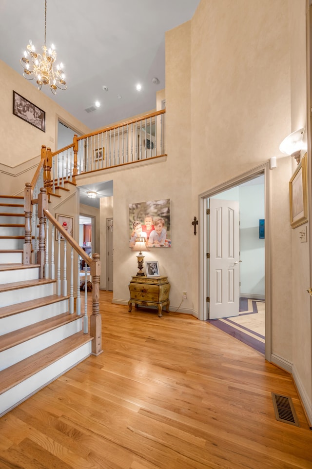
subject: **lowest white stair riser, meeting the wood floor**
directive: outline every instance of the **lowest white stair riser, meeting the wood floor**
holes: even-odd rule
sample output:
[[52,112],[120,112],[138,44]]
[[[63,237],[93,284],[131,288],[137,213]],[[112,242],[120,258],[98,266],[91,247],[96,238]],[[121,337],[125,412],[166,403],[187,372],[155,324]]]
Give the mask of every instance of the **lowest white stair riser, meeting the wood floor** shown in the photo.
[[91,355],[91,341],[0,395],[0,417]]

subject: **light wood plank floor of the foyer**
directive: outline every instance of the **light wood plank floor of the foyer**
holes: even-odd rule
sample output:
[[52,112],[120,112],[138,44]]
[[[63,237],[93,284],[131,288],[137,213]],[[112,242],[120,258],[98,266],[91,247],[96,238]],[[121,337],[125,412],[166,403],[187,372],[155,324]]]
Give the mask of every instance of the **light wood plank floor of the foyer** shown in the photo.
[[[104,352],[0,419],[0,469],[312,468],[291,377],[211,324],[111,304]],[[275,420],[291,396],[300,428]]]

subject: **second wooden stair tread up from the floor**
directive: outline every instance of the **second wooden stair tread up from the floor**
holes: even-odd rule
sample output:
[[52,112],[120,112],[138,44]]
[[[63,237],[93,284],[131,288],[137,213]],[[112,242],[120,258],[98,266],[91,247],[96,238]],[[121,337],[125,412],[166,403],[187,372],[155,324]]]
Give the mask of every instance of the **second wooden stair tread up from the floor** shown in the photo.
[[0,352],[15,347],[26,340],[33,339],[38,337],[45,332],[52,331],[60,326],[69,324],[73,321],[78,321],[81,319],[81,315],[77,316],[76,313],[69,314],[62,313],[57,316],[50,317],[49,319],[44,319],[43,321],[37,322],[36,324],[31,324],[30,326],[23,327],[17,331],[9,332],[8,334],[3,334],[0,336]]

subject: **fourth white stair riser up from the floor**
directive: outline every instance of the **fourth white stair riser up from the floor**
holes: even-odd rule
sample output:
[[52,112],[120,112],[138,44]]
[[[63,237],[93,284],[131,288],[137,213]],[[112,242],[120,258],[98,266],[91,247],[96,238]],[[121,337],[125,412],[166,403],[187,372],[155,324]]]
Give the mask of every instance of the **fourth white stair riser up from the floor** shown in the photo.
[[8,290],[6,292],[0,292],[0,305],[15,305],[16,303],[34,300],[35,298],[44,298],[45,296],[53,294],[55,294],[55,283],[39,284],[18,290]]

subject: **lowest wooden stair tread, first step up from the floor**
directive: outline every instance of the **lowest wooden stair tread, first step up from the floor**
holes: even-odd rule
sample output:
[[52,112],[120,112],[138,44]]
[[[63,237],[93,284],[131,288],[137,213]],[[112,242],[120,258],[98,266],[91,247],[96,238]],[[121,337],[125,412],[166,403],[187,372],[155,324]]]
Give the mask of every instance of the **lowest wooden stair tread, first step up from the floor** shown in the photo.
[[82,331],[77,332],[57,344],[52,345],[48,349],[41,350],[19,363],[2,370],[0,394],[13,388],[13,386],[20,384],[25,379],[43,370],[90,340],[92,340],[92,337],[89,334],[84,334]]

